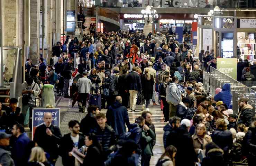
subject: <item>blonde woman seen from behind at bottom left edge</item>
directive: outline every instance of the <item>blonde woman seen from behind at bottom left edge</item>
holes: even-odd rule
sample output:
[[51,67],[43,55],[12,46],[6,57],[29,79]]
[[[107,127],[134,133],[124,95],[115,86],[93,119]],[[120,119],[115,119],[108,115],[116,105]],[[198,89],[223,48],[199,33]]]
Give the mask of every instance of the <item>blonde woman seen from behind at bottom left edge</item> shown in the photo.
[[28,166],[51,166],[45,157],[43,148],[39,146],[32,148]]

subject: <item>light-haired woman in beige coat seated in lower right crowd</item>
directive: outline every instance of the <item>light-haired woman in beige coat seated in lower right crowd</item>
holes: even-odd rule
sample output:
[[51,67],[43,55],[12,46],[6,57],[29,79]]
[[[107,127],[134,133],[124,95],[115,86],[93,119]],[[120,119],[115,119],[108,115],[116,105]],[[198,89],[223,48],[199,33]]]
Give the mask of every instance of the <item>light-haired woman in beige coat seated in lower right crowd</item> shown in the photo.
[[199,149],[205,150],[206,144],[212,142],[211,136],[206,134],[206,127],[203,123],[196,125],[192,139],[196,154],[198,154]]

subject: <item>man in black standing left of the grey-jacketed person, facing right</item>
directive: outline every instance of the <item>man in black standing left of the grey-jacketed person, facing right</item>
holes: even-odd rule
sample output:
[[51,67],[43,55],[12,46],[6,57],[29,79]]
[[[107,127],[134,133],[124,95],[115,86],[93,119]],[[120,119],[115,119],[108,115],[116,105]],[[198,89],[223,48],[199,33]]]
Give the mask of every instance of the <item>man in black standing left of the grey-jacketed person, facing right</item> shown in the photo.
[[72,66],[71,66],[73,61],[74,61],[74,59],[72,57],[70,57],[68,59],[68,62],[64,65],[64,68],[63,68],[63,76],[64,76],[63,92],[64,92],[64,98],[70,98],[70,96],[68,95],[68,86],[69,86],[69,80],[71,79],[71,74],[73,74]]

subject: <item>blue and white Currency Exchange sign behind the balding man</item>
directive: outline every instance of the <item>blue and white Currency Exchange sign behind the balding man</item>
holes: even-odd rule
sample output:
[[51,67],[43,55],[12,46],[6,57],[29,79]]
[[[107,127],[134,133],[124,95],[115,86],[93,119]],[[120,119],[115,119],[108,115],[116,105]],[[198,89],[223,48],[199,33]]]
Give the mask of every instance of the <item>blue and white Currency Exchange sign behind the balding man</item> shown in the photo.
[[32,110],[32,139],[36,128],[44,123],[44,114],[50,112],[52,114],[52,125],[60,127],[60,109],[59,108],[34,108]]

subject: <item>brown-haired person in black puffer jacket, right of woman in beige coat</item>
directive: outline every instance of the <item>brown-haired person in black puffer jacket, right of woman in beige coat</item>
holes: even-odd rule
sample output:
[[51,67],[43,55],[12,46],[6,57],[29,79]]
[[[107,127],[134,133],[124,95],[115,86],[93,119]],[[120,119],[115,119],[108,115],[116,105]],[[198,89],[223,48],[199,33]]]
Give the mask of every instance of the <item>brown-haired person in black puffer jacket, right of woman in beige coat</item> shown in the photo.
[[224,151],[223,157],[227,161],[228,150],[233,146],[232,133],[227,130],[227,123],[224,119],[216,120],[216,128],[211,134],[212,141]]

